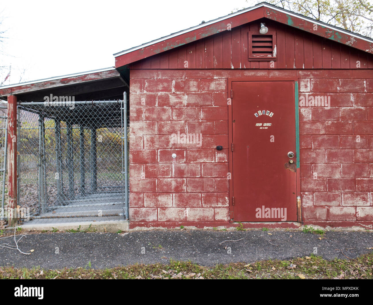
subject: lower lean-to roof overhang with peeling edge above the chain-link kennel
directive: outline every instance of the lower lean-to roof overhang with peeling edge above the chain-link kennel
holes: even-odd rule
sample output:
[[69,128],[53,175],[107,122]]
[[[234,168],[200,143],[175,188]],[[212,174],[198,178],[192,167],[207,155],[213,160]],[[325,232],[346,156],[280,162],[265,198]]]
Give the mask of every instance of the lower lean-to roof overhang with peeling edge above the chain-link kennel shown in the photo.
[[44,96],[75,96],[76,101],[109,99],[128,90],[128,82],[114,68],[105,68],[0,87],[0,99],[16,95],[18,100],[43,101]]

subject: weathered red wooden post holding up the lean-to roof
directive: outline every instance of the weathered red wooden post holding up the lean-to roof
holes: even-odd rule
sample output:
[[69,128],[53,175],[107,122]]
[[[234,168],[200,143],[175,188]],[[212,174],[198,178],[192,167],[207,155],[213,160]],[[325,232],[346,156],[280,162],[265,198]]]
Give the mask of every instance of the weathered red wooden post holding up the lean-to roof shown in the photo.
[[[8,95],[8,225],[17,224],[17,97]],[[12,213],[9,213],[10,210]]]

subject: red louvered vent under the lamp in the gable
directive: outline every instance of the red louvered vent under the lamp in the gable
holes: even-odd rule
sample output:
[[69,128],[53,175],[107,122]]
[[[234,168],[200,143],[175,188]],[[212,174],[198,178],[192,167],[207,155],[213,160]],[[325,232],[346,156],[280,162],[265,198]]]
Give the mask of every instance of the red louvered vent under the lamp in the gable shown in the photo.
[[276,36],[268,32],[265,35],[249,34],[249,60],[273,60],[276,58]]

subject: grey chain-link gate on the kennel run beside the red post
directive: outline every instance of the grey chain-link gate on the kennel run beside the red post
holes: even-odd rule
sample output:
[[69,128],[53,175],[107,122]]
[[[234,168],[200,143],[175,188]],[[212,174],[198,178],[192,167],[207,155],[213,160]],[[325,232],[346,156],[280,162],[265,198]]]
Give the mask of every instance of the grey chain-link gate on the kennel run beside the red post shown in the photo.
[[121,100],[19,103],[18,202],[34,222],[128,219],[126,108]]

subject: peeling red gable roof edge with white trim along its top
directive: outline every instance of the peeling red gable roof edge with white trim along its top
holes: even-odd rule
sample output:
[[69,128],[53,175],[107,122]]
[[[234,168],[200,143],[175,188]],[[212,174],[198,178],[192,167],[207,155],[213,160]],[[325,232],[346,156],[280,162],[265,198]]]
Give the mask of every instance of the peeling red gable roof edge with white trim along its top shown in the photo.
[[[337,26],[332,26],[316,19],[282,9],[272,4],[262,2],[256,6],[239,10],[224,17],[220,17],[200,25],[193,26],[168,36],[147,42],[137,47],[130,48],[118,53],[115,56],[115,67],[122,67],[152,55],[162,53],[189,42],[196,41],[223,31],[227,31],[228,24],[231,28],[241,26],[261,18],[267,18],[276,22],[292,26],[303,31],[319,35],[323,38],[336,41],[358,50],[373,54],[373,39],[359,35]],[[317,25],[317,30],[314,30]]]

